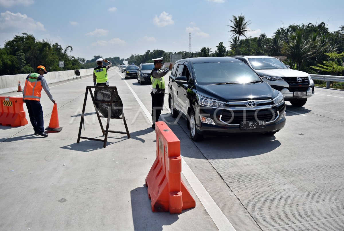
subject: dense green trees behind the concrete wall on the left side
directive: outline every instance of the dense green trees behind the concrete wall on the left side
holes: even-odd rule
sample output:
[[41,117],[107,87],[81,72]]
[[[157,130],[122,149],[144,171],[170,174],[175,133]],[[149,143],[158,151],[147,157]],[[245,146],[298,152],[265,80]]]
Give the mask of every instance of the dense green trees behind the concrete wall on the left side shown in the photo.
[[[29,74],[36,70],[38,65],[43,65],[48,72],[60,71],[59,61],[64,61],[63,70],[77,70],[94,68],[95,61],[100,55],[91,60],[70,55],[72,46],[62,47],[58,43],[38,41],[33,35],[22,33],[10,41],[6,41],[0,48],[0,75]],[[124,59],[108,57],[114,65],[123,64]]]

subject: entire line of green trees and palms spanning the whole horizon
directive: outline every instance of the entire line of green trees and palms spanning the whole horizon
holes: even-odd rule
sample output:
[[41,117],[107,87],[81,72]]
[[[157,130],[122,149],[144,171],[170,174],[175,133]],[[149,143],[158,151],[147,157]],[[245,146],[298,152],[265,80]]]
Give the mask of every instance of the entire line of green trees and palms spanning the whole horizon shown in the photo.
[[[286,56],[285,63],[293,69],[302,70],[310,74],[343,75],[344,67],[344,25],[340,30],[330,32],[324,22],[319,24],[289,25],[276,30],[270,38],[265,33],[258,37],[247,37],[250,21],[245,16],[232,15],[232,24],[227,25],[231,34],[228,49],[223,42],[219,42],[216,50],[202,47],[195,52],[165,52],[163,50],[147,50],[144,54],[129,57],[128,64],[140,65],[152,63],[153,58],[163,57],[169,61],[170,54],[181,54],[182,58],[231,55],[269,55]],[[59,61],[64,61],[64,70],[94,68],[98,58],[91,60],[75,58],[70,53],[72,46],[62,47],[58,43],[37,41],[33,35],[22,33],[10,41],[6,41],[0,48],[0,75],[27,74],[35,71],[38,64],[44,64],[49,71],[59,71]],[[106,58],[114,65],[124,64],[120,57]]]

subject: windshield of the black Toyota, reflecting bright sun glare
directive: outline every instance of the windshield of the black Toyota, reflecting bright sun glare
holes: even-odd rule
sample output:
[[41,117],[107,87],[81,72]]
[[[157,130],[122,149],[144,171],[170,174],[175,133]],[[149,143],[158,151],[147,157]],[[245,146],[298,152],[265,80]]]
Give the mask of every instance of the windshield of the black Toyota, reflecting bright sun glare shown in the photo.
[[194,78],[200,85],[250,83],[252,81],[261,80],[259,76],[243,62],[195,63],[193,66],[195,72]]

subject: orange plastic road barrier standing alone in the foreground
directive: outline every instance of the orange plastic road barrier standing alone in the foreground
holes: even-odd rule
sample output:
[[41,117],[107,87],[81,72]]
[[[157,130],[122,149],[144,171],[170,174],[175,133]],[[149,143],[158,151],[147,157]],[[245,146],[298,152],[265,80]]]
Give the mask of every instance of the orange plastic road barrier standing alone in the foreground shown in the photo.
[[148,197],[152,200],[153,212],[181,213],[196,207],[184,181],[180,141],[165,122],[155,123],[157,134],[157,158],[146,177]]

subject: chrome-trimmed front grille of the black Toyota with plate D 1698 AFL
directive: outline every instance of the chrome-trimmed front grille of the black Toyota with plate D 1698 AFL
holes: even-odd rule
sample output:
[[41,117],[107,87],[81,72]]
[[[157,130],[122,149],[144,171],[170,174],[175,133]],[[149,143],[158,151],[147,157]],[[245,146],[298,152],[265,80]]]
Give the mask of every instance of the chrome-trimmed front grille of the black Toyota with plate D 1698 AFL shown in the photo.
[[279,112],[272,100],[256,100],[257,106],[249,108],[247,101],[227,102],[220,120],[229,125],[238,125],[243,121],[265,120],[267,123],[278,118]]

